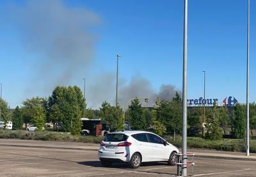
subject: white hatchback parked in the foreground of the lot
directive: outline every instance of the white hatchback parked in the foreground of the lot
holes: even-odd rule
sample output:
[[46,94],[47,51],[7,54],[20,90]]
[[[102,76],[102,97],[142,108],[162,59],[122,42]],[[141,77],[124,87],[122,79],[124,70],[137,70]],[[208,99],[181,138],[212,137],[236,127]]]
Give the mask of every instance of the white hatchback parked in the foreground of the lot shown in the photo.
[[113,162],[127,162],[129,167],[138,168],[141,162],[167,162],[174,166],[177,147],[152,132],[112,132],[100,143],[99,159],[102,166]]

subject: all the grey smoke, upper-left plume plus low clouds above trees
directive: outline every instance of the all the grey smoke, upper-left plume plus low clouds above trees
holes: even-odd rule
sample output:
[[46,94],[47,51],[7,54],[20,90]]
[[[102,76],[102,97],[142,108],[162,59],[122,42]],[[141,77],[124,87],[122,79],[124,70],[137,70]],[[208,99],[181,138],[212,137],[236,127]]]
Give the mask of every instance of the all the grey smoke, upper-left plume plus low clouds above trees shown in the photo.
[[[95,76],[88,71],[98,39],[93,29],[100,24],[100,17],[84,8],[67,7],[60,0],[23,3],[2,6],[0,22],[8,22],[19,32],[21,45],[29,55],[28,60],[20,58],[29,64],[33,73],[24,99],[49,96],[57,85],[73,85],[74,78],[82,82],[83,76],[88,76],[94,79],[86,85],[88,107],[99,109],[103,101],[115,105],[115,73],[102,72]],[[141,76],[134,76],[129,82],[120,78],[118,102],[124,107],[133,97],[147,97],[148,103],[143,100],[141,103],[150,107],[157,97],[170,100],[176,91],[172,85],[162,85],[157,92],[150,81]]]

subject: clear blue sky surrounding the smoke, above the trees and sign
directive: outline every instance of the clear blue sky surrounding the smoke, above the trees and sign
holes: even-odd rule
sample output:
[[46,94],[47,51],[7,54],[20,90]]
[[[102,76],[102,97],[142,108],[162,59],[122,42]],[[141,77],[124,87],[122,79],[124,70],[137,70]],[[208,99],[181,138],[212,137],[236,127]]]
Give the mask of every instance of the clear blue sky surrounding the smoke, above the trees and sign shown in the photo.
[[[18,6],[15,10],[26,11],[29,2],[12,1],[12,4]],[[40,1],[36,2],[40,5]],[[47,1],[49,8],[51,2]],[[92,85],[104,80],[104,76],[108,74],[115,78],[116,54],[120,53],[123,55],[119,63],[120,84],[124,87],[131,83],[132,78],[140,78],[147,80],[148,87],[154,92],[158,92],[163,84],[174,85],[178,90],[182,90],[184,1],[64,0],[60,3],[65,9],[65,14],[68,10],[81,8],[97,16],[95,20],[97,23],[86,28],[93,36],[93,48],[90,51],[92,53],[88,55],[91,58],[90,62],[86,63],[84,69],[72,68],[72,72],[77,74],[60,84],[57,82],[56,85],[78,85],[83,90],[83,78],[86,78],[89,107],[99,108],[100,103],[105,100],[113,103],[115,80],[109,83],[111,88],[108,89],[110,93],[106,93],[108,96],[104,97],[104,91],[99,89],[99,92],[103,92],[102,100],[98,98],[98,103],[93,104],[94,97],[102,94],[93,92],[95,87]],[[0,6],[4,9],[12,9],[9,4],[10,1],[0,2]],[[34,5],[39,6],[38,4]],[[33,12],[29,14],[31,13],[33,14]],[[252,1],[250,102],[256,100],[255,13],[256,2]],[[40,77],[37,79],[33,77],[38,72],[35,68],[36,64],[40,65],[45,60],[44,48],[36,50],[33,47],[28,48],[27,45],[33,45],[36,39],[29,38],[31,43],[28,38],[24,40],[23,35],[28,33],[20,31],[24,31],[26,24],[19,23],[15,17],[3,18],[3,12],[0,15],[2,16],[0,22],[3,24],[0,29],[0,82],[3,83],[4,100],[11,108],[15,108],[20,106],[24,99],[33,96],[50,96],[51,90],[56,85],[51,84],[49,89],[45,89],[47,85],[45,78],[40,82]],[[8,12],[5,12],[5,15],[12,16]],[[29,19],[26,22],[29,23]],[[245,103],[246,24],[246,1],[189,1],[188,98],[196,99],[203,96],[202,71],[206,71],[207,98],[222,100],[227,96],[234,96],[237,101]],[[55,66],[54,73],[61,74],[61,68]],[[47,68],[44,72],[47,72]],[[54,75],[47,76],[47,80],[51,79],[54,80]],[[104,87],[108,87],[108,83]]]

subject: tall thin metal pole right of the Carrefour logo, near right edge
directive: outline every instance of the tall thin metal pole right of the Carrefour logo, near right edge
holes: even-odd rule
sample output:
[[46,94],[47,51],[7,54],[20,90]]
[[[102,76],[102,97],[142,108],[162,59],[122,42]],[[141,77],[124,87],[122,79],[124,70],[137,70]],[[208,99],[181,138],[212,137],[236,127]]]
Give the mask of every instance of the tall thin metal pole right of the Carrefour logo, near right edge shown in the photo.
[[250,135],[249,135],[249,49],[250,49],[250,0],[248,0],[247,14],[247,78],[246,78],[246,156],[250,156]]

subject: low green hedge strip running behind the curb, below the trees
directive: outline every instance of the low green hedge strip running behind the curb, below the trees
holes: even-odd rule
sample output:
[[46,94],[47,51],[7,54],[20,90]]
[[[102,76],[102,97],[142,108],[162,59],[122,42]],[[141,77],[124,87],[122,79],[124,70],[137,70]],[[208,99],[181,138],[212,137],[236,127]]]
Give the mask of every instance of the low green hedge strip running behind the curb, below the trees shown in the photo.
[[[81,143],[99,144],[104,137],[102,136],[73,136],[61,132],[26,132],[26,131],[8,131],[0,130],[0,138],[16,139],[34,139],[42,141],[67,141]],[[173,141],[172,136],[164,136],[164,139],[178,148],[182,147],[182,138],[177,136]],[[243,139],[221,139],[216,141],[203,138],[188,137],[188,148],[207,148],[214,150],[223,150],[228,152],[244,152],[245,142]],[[250,141],[250,152],[256,153],[256,140]]]

